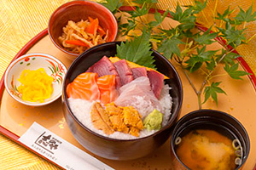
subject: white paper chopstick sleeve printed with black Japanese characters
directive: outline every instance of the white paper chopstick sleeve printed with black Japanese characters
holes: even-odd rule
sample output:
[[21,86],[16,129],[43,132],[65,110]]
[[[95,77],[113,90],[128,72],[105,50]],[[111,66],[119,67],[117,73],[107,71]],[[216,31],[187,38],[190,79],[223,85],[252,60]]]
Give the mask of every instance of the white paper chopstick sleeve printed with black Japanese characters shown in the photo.
[[34,122],[19,141],[55,164],[69,170],[113,169]]

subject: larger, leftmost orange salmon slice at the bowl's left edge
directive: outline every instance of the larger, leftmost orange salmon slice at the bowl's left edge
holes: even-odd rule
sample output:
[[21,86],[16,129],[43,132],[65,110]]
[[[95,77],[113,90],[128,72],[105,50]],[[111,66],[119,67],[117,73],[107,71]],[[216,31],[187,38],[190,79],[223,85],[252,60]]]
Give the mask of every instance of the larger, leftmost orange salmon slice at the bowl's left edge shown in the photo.
[[97,73],[84,72],[67,85],[67,97],[93,101],[100,99],[100,90],[97,86]]

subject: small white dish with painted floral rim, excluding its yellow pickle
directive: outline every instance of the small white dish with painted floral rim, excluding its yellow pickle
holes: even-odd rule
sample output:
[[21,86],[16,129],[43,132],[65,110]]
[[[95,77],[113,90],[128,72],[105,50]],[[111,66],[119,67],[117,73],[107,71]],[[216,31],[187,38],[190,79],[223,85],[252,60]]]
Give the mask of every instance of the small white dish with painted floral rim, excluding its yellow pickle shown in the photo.
[[[39,68],[44,68],[47,75],[54,78],[53,81],[53,93],[50,95],[49,99],[44,99],[44,102],[30,102],[23,100],[22,94],[17,90],[20,86],[18,81],[20,74],[23,70],[38,70]],[[25,54],[15,59],[10,63],[4,75],[4,86],[7,92],[11,95],[13,99],[24,105],[40,106],[48,105],[56,99],[58,99],[62,94],[62,84],[67,68],[61,63],[59,59],[49,54]]]

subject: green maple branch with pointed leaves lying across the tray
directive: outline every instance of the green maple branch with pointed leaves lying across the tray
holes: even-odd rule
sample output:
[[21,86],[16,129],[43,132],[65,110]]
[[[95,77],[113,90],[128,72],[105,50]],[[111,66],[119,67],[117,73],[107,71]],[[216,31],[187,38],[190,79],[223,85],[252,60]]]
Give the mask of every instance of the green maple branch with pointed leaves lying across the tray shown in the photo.
[[[233,18],[230,16],[233,14],[234,9],[230,10],[230,8],[227,8],[223,14],[219,14],[215,7],[212,26],[214,26],[217,31],[210,32],[211,27],[208,31],[198,31],[193,33],[197,26],[197,23],[195,22],[197,14],[201,13],[207,6],[207,1],[205,3],[195,1],[194,6],[188,5],[185,9],[182,9],[181,6],[177,4],[176,11],[172,12],[166,10],[166,13],[163,14],[162,17],[160,17],[160,14],[156,11],[154,20],[150,22],[147,21],[147,23],[143,22],[142,16],[143,14],[148,13],[149,8],[152,7],[152,4],[155,3],[156,0],[134,0],[133,2],[140,3],[140,8],[137,6],[135,11],[128,12],[129,15],[119,11],[119,7],[122,5],[122,2],[119,0],[107,0],[106,4],[113,12],[119,11],[128,19],[128,24],[120,26],[121,31],[123,31],[123,33],[125,32],[125,36],[127,36],[129,31],[136,29],[138,24],[143,26],[142,30],[151,32],[148,41],[152,43],[155,42],[157,50],[161,54],[166,56],[167,59],[173,59],[181,66],[185,77],[188,79],[189,84],[197,95],[199,109],[201,109],[202,104],[204,104],[209,97],[211,97],[218,105],[217,94],[225,94],[225,92],[218,87],[220,82],[210,81],[212,80],[212,77],[217,77],[212,76],[212,74],[220,63],[225,64],[224,71],[226,71],[231,78],[241,79],[242,76],[248,74],[245,71],[238,71],[238,64],[235,64],[232,60],[238,57],[238,54],[234,53],[238,46],[247,43],[251,41],[253,37],[256,37],[256,34],[248,40],[244,37],[247,23],[256,20],[256,12],[253,13],[252,6],[248,8],[247,11],[240,8],[239,13]],[[171,27],[170,29],[165,30],[161,26],[161,23],[167,14],[170,14],[172,20],[177,20],[179,24],[174,28]],[[219,27],[217,26],[217,20],[220,21]],[[160,26],[160,32],[154,31],[154,26]],[[239,26],[242,26],[243,29],[239,30]],[[206,50],[207,45],[212,44],[212,42],[217,42],[215,37],[222,37],[222,40],[225,41],[219,41],[224,47],[222,54],[219,55],[216,54],[216,51]],[[183,42],[184,38],[185,42]],[[183,44],[185,44],[184,48],[181,49],[180,46]],[[132,47],[132,44],[130,45]],[[230,49],[230,46],[232,49]],[[151,63],[153,63],[152,60]],[[207,71],[202,69],[203,65],[207,65],[205,66]],[[199,69],[204,71],[206,77],[203,79],[199,90],[197,90],[189,77],[189,72],[193,73]],[[205,100],[203,102],[201,102],[201,94],[205,94]]]

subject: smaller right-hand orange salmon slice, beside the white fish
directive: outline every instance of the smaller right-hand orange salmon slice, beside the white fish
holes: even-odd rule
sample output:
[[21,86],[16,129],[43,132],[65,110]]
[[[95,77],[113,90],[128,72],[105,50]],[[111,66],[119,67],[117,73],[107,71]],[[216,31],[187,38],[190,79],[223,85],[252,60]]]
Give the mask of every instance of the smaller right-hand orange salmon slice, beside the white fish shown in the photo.
[[96,83],[100,90],[100,100],[103,104],[111,103],[119,97],[115,87],[115,75],[99,77]]

